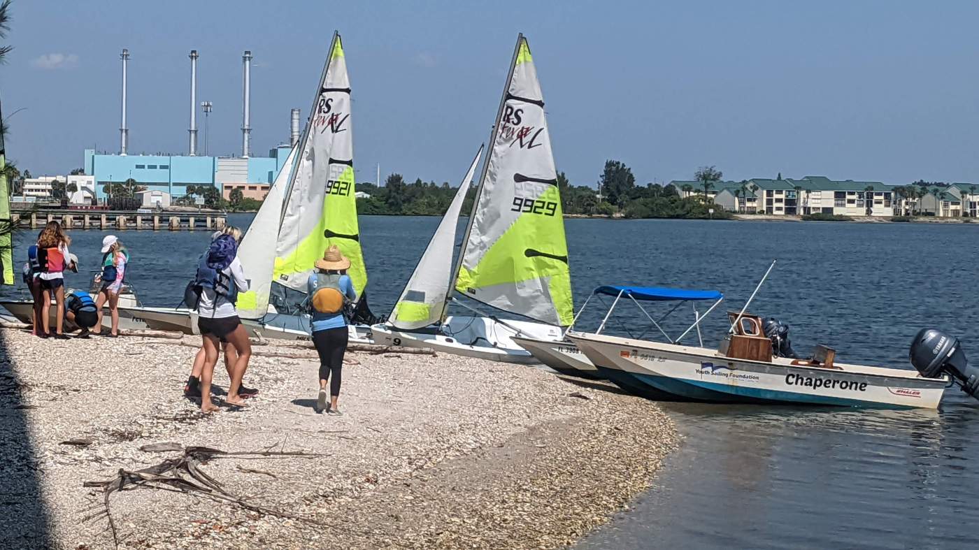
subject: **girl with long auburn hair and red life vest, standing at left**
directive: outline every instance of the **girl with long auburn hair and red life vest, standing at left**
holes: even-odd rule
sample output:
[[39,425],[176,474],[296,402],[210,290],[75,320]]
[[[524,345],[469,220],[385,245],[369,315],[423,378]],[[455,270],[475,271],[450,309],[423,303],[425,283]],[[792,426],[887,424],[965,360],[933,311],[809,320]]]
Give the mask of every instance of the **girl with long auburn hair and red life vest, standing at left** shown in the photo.
[[[44,333],[41,338],[53,336],[59,340],[68,340],[63,332],[65,324],[65,274],[70,267],[71,259],[68,246],[71,240],[57,221],[49,221],[41,236],[37,239],[38,262],[41,273],[38,275],[41,288],[41,323]],[[51,334],[51,297],[57,301],[55,311],[55,334]]]

